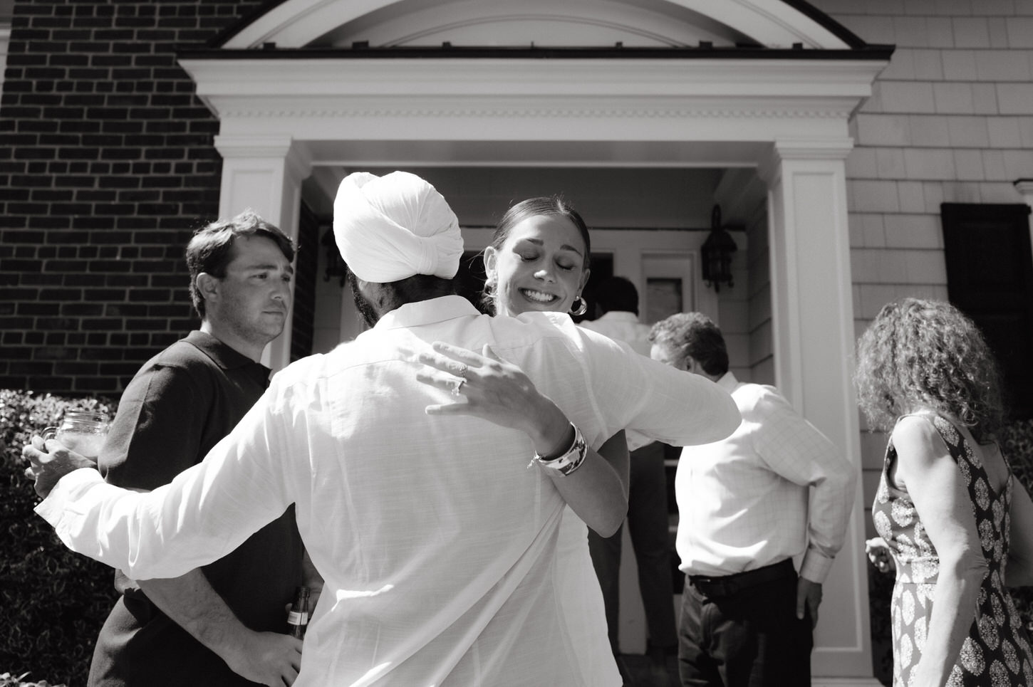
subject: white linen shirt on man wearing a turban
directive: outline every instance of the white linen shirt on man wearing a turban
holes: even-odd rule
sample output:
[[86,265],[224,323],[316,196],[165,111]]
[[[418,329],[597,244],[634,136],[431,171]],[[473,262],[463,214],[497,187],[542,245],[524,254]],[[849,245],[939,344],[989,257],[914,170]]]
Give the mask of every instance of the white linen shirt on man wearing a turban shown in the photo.
[[[325,580],[296,687],[598,687],[578,669],[580,637],[559,612],[564,501],[544,468],[528,468],[525,433],[425,414],[453,400],[415,379],[415,353],[436,340],[490,343],[594,447],[624,427],[678,444],[739,424],[717,385],[632,359],[566,315],[490,318],[449,296],[403,305],[278,373],[171,484],[135,493],[81,469],[37,512],[71,549],[149,579],[220,558],[295,503]],[[609,656],[604,641],[598,652]]]

